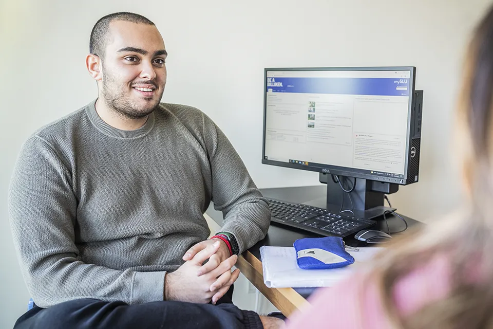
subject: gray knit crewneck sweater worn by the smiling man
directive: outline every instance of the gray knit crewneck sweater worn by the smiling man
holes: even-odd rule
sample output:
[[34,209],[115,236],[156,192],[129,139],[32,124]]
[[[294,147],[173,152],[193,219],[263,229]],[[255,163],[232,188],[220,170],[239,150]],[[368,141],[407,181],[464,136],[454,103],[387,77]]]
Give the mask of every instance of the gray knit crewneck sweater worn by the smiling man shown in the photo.
[[94,103],[35,132],[13,172],[13,240],[37,305],[162,300],[165,272],[210,234],[211,200],[240,252],[264,237],[266,200],[210,118],[163,103],[122,131]]

